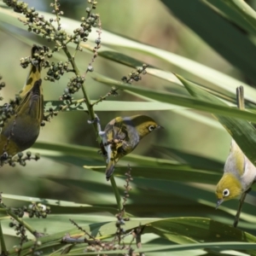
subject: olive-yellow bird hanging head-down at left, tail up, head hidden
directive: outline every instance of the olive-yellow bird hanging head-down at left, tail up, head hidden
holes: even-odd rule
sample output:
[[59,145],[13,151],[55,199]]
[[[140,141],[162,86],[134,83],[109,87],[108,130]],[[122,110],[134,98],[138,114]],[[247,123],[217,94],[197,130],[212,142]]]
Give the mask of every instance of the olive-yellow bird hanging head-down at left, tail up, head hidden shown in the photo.
[[[32,58],[42,48],[32,47]],[[32,61],[26,83],[20,91],[20,103],[15,107],[15,114],[3,123],[0,134],[0,159],[30,148],[36,142],[44,114],[44,96],[41,79],[41,60]],[[9,104],[6,105],[9,108]]]

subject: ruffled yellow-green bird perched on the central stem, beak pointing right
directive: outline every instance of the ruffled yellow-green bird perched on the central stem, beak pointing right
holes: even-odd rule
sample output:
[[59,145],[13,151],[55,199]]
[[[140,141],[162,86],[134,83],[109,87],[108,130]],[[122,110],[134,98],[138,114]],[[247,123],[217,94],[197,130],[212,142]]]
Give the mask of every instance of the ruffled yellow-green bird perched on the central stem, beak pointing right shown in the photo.
[[100,132],[107,154],[107,180],[119,159],[131,153],[143,137],[160,127],[154,119],[141,114],[111,120],[104,131]]

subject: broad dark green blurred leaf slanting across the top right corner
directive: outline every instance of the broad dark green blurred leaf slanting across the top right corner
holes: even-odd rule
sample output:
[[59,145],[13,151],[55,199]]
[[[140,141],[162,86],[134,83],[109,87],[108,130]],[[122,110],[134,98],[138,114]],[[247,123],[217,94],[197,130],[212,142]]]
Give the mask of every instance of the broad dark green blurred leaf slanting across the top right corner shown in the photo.
[[[190,0],[185,6],[182,1],[162,0],[162,2],[172,11],[173,15],[189,26],[227,61],[239,68],[247,77],[256,81],[254,65],[256,47],[247,35],[200,0]],[[242,11],[248,13],[245,9]]]

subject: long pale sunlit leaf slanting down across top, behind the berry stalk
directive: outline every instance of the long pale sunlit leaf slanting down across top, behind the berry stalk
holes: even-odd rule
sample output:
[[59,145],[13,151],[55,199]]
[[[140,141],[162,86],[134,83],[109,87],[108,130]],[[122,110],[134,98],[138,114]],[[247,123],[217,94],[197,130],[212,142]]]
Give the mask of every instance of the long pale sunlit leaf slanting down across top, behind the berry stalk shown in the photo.
[[[18,21],[18,17],[20,17],[20,14],[14,13],[9,9],[3,9],[3,8],[0,8],[0,14],[1,14],[0,20],[2,20],[3,22],[7,22],[12,26],[19,27],[21,30],[26,31],[26,26],[23,26],[23,24],[20,21]],[[50,18],[55,19],[55,15],[45,13],[45,12],[40,12],[40,14],[44,15],[46,19],[50,19]],[[75,28],[80,26],[79,21],[71,20],[66,17],[61,17],[61,23],[69,33],[72,33]],[[1,29],[4,30],[4,27],[1,26],[1,24],[0,24],[0,27]],[[5,30],[5,32],[11,33],[10,30],[8,31]],[[166,50],[157,49],[149,45],[141,44],[139,42],[132,41],[129,38],[123,38],[119,35],[115,35],[111,32],[107,32],[103,30],[102,32],[104,33],[104,42],[102,42],[102,47],[101,49],[98,50],[98,54],[104,58],[122,63],[129,67],[142,67],[143,66],[142,61],[137,61],[135,58],[132,58],[130,55],[124,55],[114,49],[108,48],[106,45],[111,45],[113,47],[119,46],[121,48],[133,49],[135,51],[142,52],[146,55],[153,55],[156,58],[172,63],[172,65],[174,65],[175,67],[178,67],[181,70],[191,73],[195,77],[198,77],[200,79],[207,81],[210,84],[213,84],[215,87],[217,87],[218,90],[221,89],[226,92],[229,92],[229,95],[230,93],[231,95],[235,95],[234,91],[236,90],[236,87],[242,85],[247,91],[246,99],[250,102],[256,103],[255,102],[256,90],[254,90],[252,87],[248,86],[247,84],[237,79],[234,79],[228,75],[225,75],[224,73],[220,73],[217,70],[201,65],[196,61],[189,60],[183,56],[175,55]],[[24,37],[23,33],[20,36],[17,35],[17,33],[18,31],[15,31],[15,33],[12,33],[12,35],[20,39],[22,42],[26,44],[31,45],[34,43],[34,41],[30,40],[27,37]],[[93,51],[94,44],[95,44],[95,38],[92,36],[92,33],[91,33],[89,40],[86,43],[82,42],[80,45],[84,49]],[[70,46],[73,48],[76,47],[76,45],[74,44],[70,44]],[[166,79],[167,81],[178,84],[177,79],[170,72],[166,72],[158,68],[149,66],[147,68],[147,73],[153,76],[156,76],[160,79]]]

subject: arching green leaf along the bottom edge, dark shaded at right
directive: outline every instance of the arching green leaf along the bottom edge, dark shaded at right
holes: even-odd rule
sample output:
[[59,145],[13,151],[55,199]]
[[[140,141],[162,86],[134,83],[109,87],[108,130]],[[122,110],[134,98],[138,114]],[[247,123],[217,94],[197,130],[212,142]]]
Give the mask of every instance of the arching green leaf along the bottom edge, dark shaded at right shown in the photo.
[[[116,221],[108,223],[86,224],[81,225],[83,230],[90,232],[96,238],[106,239],[109,236],[114,236],[116,233]],[[125,222],[125,230],[135,229],[137,226],[145,226],[143,233],[155,233],[169,241],[178,243],[190,244],[183,245],[183,248],[205,248],[212,249],[244,249],[248,250],[247,253],[255,253],[256,237],[248,234],[247,232],[235,229],[229,225],[220,224],[209,218],[132,218],[131,221]],[[44,250],[46,247],[55,247],[61,243],[61,239],[65,234],[71,237],[79,237],[83,239],[84,232],[73,228],[70,230],[63,230],[54,235],[44,236],[38,238],[42,245],[38,247],[39,250]],[[207,241],[217,241],[216,243],[208,243]],[[236,246],[234,242],[236,241]],[[22,245],[22,253],[26,253],[32,247],[34,241],[28,241]],[[243,242],[243,243],[241,243]],[[247,243],[245,243],[247,242]],[[167,247],[162,247],[166,250]],[[172,245],[168,247],[169,250],[178,250],[182,247]],[[156,247],[154,250],[160,251],[161,247]],[[147,251],[152,251],[148,249]],[[9,255],[15,255],[15,249],[9,250]],[[84,254],[84,253],[83,253]],[[72,254],[73,255],[73,254]]]

